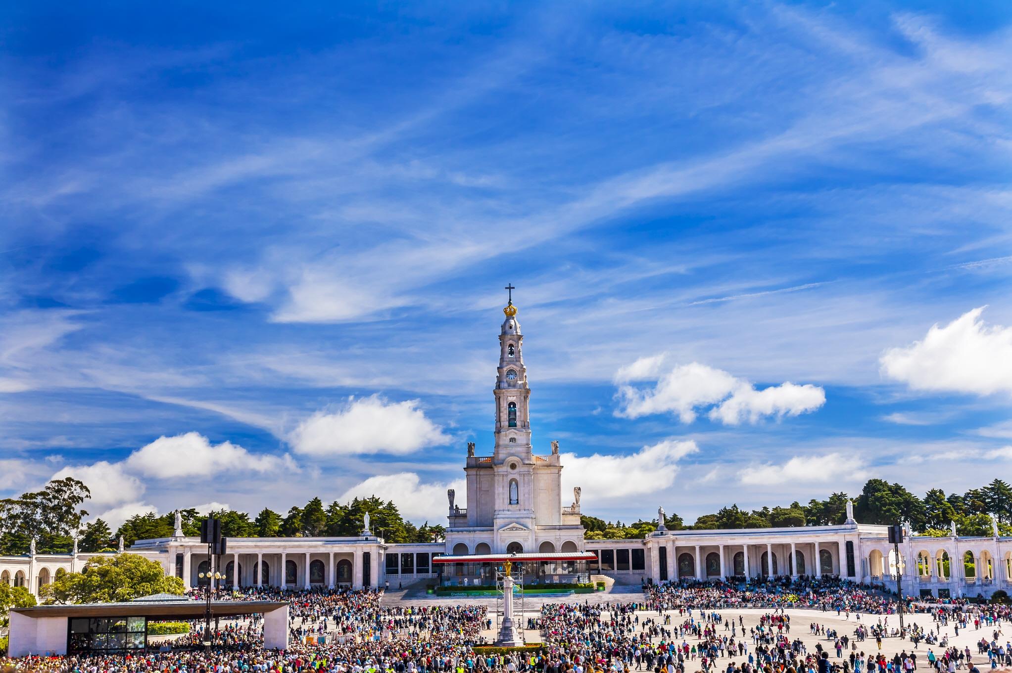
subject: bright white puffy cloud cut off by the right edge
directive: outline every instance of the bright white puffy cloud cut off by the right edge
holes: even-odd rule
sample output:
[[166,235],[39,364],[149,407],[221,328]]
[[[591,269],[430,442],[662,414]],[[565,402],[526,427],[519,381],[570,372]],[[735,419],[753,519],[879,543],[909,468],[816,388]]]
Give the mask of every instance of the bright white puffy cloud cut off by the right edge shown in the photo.
[[882,374],[913,390],[1012,393],[1012,327],[986,325],[985,308],[945,326],[935,323],[924,340],[890,349],[879,360]]

